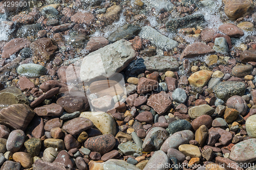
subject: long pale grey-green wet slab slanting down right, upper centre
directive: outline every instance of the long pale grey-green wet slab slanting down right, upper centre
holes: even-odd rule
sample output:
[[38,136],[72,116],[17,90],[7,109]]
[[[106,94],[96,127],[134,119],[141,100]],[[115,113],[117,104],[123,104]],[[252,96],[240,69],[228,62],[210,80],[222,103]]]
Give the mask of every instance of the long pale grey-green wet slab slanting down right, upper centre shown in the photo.
[[178,42],[160,34],[157,30],[150,26],[142,27],[139,36],[140,38],[150,40],[151,43],[164,50],[171,50],[172,48],[178,46]]

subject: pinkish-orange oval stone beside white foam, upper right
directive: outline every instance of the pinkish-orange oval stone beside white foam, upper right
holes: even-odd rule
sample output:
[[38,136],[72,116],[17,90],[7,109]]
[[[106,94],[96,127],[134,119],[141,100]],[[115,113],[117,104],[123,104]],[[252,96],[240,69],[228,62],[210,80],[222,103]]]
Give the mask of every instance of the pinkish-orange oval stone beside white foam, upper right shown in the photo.
[[229,37],[241,37],[244,35],[243,30],[233,23],[224,23],[219,27],[219,30],[224,34],[227,34]]

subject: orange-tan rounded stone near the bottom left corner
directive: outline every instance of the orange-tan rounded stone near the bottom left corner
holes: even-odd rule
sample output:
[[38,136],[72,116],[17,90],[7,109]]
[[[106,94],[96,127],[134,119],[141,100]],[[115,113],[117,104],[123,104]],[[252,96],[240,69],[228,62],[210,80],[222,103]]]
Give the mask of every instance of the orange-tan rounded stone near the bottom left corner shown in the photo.
[[33,164],[33,158],[26,152],[16,152],[13,154],[13,160],[22,164],[24,168],[29,168]]

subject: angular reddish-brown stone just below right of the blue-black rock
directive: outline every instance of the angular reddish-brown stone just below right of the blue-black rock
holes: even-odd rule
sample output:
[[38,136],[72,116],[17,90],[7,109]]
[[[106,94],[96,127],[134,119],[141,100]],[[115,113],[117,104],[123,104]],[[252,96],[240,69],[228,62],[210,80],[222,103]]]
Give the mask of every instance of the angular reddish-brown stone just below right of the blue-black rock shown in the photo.
[[139,83],[137,86],[137,91],[139,94],[152,91],[158,87],[158,82],[155,80],[147,79],[144,77],[139,78]]

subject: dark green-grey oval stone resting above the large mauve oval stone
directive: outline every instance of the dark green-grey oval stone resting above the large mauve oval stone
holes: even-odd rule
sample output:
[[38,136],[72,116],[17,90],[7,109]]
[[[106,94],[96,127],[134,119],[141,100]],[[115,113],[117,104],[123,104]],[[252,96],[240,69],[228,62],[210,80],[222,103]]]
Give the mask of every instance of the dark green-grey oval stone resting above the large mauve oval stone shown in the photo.
[[170,123],[166,130],[169,134],[174,134],[179,131],[190,130],[191,127],[191,124],[187,120],[180,119]]

